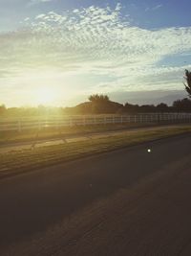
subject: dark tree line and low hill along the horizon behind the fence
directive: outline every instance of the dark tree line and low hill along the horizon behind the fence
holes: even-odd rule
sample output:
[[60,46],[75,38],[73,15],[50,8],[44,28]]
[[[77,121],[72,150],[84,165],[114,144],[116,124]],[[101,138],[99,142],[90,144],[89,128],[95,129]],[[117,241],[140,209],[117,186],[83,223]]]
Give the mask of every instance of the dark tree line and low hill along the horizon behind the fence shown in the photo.
[[[191,72],[185,70],[185,90],[191,99]],[[153,112],[191,112],[191,100],[188,98],[177,100],[169,106],[163,103],[159,105],[125,105],[113,102],[107,95],[91,95],[89,102],[74,107],[11,107],[0,105],[0,117],[24,117],[45,115],[80,115],[80,114],[131,114]]]

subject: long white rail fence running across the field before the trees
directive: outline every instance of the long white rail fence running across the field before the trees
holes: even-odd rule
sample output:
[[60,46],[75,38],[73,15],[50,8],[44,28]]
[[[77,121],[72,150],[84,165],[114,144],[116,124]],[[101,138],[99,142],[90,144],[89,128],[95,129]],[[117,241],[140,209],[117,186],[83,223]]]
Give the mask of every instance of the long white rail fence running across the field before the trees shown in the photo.
[[191,122],[191,113],[147,113],[136,115],[94,115],[50,117],[47,119],[0,119],[0,131],[42,128],[64,128],[125,123],[184,123]]

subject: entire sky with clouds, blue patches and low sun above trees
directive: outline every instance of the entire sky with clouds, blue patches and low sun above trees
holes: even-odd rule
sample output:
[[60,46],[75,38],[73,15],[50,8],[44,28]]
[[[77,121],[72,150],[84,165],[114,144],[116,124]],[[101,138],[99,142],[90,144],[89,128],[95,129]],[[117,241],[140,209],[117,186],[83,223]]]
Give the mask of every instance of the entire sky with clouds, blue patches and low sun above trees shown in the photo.
[[0,105],[185,98],[190,0],[0,0]]

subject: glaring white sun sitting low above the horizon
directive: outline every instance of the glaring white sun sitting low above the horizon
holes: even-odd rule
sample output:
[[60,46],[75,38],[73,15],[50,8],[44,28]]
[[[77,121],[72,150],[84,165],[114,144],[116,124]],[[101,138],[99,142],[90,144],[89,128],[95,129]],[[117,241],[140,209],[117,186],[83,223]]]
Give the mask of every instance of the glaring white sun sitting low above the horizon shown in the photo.
[[56,91],[53,88],[39,88],[36,91],[36,102],[39,105],[51,105],[56,100]]

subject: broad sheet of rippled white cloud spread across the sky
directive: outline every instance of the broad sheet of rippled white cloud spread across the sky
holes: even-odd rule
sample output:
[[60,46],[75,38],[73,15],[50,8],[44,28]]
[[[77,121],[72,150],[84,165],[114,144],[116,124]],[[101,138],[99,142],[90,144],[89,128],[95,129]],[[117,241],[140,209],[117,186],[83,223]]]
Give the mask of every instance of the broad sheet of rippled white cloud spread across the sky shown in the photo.
[[[159,61],[191,51],[191,27],[150,31],[132,26],[120,10],[118,4],[114,10],[90,6],[39,13],[26,20],[23,30],[1,34],[0,86],[5,78],[13,78],[16,86],[30,82],[35,71],[56,70],[55,76],[65,74],[83,94],[180,89],[188,65],[162,66]],[[25,82],[23,74],[28,74]]]

